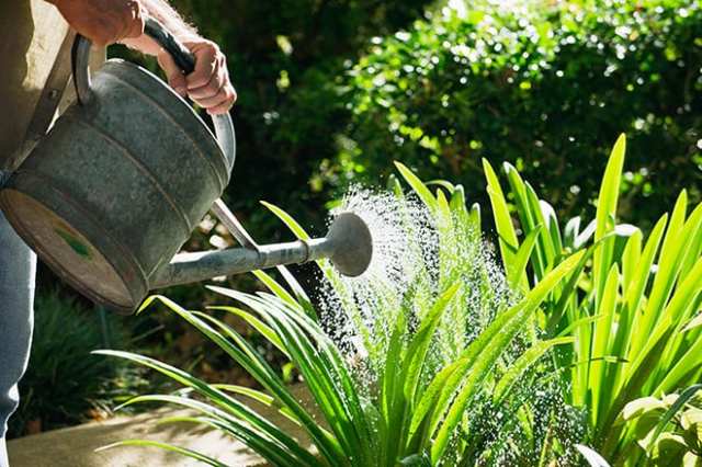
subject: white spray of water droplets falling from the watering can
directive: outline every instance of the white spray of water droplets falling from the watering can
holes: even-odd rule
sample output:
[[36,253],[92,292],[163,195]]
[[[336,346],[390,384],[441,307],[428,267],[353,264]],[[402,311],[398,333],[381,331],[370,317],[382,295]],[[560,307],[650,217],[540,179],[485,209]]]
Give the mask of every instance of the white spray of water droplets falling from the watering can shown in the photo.
[[[434,334],[422,374],[426,384],[438,369],[458,358],[500,310],[519,299],[507,286],[492,244],[467,223],[437,220],[416,197],[362,187],[351,190],[331,217],[343,212],[352,212],[367,224],[373,260],[360,277],[335,273],[320,277],[320,308],[325,330],[353,362],[361,391],[374,386],[375,375],[384,367],[398,314],[405,314],[409,337],[439,294],[455,282],[462,284]],[[513,340],[505,354],[506,363],[523,353],[528,340],[525,334]],[[563,433],[568,433],[563,435],[570,440],[568,444],[578,441],[579,415],[563,401],[557,383],[519,388],[518,394],[537,409],[536,417],[554,418]],[[489,394],[484,396],[486,402],[477,403],[472,412],[473,429],[487,433],[488,445],[508,445],[506,436],[521,436],[520,429],[509,421],[513,417],[492,407]],[[543,420],[535,430],[546,430],[550,423]],[[517,460],[513,455],[510,448],[505,449],[499,465],[512,465]]]

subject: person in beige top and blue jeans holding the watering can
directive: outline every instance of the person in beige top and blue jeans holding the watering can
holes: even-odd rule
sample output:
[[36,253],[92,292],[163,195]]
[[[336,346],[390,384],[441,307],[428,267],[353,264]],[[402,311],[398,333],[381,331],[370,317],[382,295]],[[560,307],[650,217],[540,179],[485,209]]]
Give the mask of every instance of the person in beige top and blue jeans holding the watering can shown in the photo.
[[[155,18],[195,56],[184,76],[172,58],[144,34]],[[169,84],[211,114],[228,112],[236,92],[226,58],[201,37],[166,0],[13,0],[0,5],[0,186],[16,168],[32,135],[47,130],[70,67],[69,26],[107,46],[122,43],[158,57]],[[64,76],[61,79],[61,76]],[[48,92],[47,92],[48,91]],[[0,213],[0,467],[8,467],[8,420],[19,405],[18,381],[26,369],[33,326],[36,258]]]

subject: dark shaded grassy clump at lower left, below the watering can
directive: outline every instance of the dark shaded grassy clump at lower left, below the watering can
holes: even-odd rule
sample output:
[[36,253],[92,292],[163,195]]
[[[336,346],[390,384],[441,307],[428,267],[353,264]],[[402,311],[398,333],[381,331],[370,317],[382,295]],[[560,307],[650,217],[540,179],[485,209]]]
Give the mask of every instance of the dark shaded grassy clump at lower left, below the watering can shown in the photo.
[[38,295],[35,310],[31,364],[20,381],[20,407],[10,419],[10,436],[102,417],[112,405],[146,387],[141,372],[90,355],[106,344],[126,344],[126,330],[114,316],[104,317],[110,332],[103,333],[97,317],[56,291]]

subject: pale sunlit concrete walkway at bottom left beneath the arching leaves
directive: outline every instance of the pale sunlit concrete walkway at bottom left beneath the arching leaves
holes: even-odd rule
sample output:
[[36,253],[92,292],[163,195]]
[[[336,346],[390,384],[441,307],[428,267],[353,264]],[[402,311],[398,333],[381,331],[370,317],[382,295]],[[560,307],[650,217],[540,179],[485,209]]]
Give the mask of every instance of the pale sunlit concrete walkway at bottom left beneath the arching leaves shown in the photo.
[[[262,406],[259,411],[285,432],[303,440],[306,435],[288,419]],[[206,454],[229,466],[261,466],[262,458],[244,444],[217,431],[192,423],[161,424],[161,417],[192,414],[185,410],[161,409],[136,417],[116,417],[8,442],[11,467],[185,467],[203,466],[188,457],[156,447],[115,447],[95,453],[95,448],[128,440],[154,440]]]

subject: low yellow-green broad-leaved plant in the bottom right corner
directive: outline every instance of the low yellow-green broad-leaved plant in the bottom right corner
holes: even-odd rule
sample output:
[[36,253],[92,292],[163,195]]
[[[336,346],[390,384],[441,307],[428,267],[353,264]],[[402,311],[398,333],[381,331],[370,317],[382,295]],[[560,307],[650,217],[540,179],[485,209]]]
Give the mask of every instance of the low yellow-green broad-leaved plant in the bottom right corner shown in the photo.
[[[661,399],[644,397],[629,402],[619,423],[630,423],[638,446],[652,465],[697,466],[702,463],[700,387]],[[641,455],[641,453],[639,453]]]

